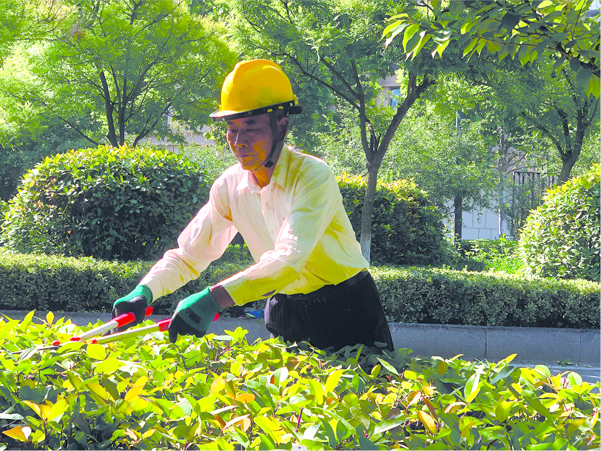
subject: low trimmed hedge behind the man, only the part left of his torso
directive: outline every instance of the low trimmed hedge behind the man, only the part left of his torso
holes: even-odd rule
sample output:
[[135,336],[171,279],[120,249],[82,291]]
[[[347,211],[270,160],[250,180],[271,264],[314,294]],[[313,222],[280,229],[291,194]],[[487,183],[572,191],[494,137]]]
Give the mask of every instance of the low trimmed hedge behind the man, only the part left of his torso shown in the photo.
[[[171,314],[182,299],[253,263],[248,250],[230,247],[197,280],[154,301],[154,311]],[[0,308],[111,311],[115,299],[129,293],[153,264],[154,261],[115,262],[3,250],[0,251]]]

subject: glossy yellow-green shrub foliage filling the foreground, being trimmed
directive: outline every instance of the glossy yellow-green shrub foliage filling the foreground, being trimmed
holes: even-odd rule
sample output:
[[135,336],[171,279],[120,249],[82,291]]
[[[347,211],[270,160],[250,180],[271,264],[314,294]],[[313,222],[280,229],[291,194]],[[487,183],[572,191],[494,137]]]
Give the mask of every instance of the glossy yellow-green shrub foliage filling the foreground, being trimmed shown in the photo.
[[[599,393],[545,366],[337,354],[275,339],[163,333],[108,346],[0,321],[0,429],[28,449],[555,449],[599,446]],[[22,353],[10,352],[23,350]],[[459,357],[459,356],[457,356]],[[540,444],[540,445],[539,445]]]

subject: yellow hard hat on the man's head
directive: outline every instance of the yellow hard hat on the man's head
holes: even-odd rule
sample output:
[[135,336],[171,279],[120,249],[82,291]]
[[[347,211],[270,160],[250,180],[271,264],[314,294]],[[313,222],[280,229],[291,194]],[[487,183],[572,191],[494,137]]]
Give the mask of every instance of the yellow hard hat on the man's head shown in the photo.
[[269,60],[240,61],[221,87],[221,105],[214,121],[251,117],[276,109],[299,114],[302,108],[281,67]]

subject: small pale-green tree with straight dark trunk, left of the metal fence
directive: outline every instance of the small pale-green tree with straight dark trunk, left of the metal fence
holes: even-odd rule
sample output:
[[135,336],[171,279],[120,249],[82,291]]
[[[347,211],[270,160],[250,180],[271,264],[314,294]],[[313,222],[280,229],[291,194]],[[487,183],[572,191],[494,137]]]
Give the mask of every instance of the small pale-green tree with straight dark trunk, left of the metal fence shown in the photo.
[[[430,100],[436,97],[431,92]],[[430,105],[431,106],[431,105]],[[426,110],[426,108],[424,108]],[[481,121],[413,112],[382,163],[388,179],[413,179],[441,212],[453,203],[454,236],[462,239],[462,215],[490,207],[499,174]]]

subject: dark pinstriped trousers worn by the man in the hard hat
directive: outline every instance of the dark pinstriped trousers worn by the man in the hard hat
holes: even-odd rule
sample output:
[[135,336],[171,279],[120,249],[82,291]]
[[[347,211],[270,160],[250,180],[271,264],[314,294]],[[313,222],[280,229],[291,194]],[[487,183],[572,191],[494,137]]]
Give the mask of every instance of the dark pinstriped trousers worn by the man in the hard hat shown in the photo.
[[332,346],[337,351],[381,342],[394,350],[380,295],[367,271],[308,295],[272,296],[265,307],[265,326],[272,337],[309,342],[316,348]]

